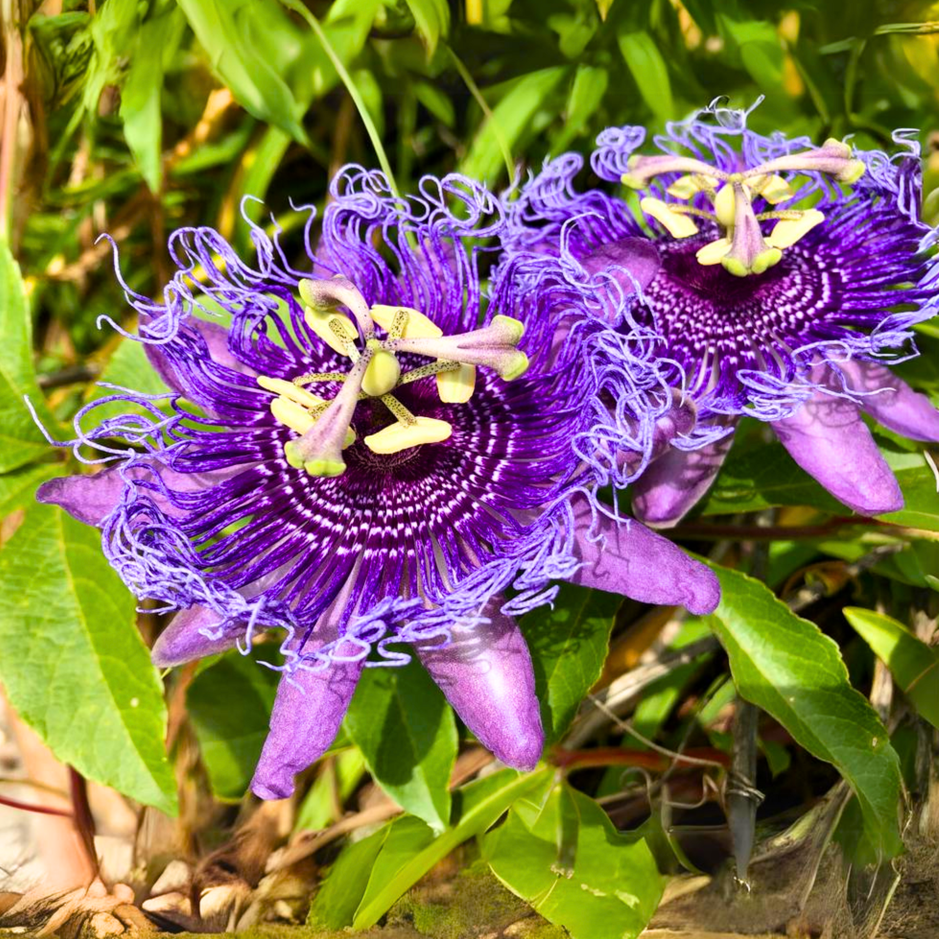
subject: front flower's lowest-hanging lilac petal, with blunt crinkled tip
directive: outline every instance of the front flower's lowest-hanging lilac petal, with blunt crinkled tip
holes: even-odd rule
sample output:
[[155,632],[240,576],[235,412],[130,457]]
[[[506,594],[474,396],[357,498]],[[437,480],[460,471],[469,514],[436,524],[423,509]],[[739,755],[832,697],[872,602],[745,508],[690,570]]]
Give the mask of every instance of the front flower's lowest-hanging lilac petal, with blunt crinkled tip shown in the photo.
[[285,799],[294,777],[329,748],[365,666],[331,662],[324,670],[286,672],[277,687],[270,732],[251,781],[262,799]]

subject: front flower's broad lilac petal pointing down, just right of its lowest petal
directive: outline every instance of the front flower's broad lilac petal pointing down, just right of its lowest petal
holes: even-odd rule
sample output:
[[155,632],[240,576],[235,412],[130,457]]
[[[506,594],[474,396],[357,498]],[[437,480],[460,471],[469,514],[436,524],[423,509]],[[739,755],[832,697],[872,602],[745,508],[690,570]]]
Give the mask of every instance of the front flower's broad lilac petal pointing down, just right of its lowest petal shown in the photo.
[[423,667],[464,724],[503,763],[530,770],[545,746],[534,670],[516,621],[499,608],[500,596],[481,612],[489,623],[454,632],[445,649],[418,649]]

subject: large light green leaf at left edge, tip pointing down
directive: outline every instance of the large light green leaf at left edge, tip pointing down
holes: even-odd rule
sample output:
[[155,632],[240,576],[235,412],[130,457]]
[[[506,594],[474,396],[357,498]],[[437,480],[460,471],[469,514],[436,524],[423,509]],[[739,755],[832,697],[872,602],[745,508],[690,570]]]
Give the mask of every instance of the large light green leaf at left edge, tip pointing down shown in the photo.
[[13,707],[83,776],[175,813],[162,685],[99,532],[33,507],[0,552],[0,582],[0,678]]

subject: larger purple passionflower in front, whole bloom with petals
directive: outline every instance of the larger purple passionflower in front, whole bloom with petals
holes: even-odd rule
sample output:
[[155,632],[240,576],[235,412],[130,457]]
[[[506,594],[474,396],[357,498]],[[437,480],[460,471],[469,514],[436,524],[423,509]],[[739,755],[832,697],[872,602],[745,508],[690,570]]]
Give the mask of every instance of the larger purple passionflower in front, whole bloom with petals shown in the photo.
[[[572,446],[593,377],[577,342],[549,342],[554,296],[503,290],[486,308],[499,201],[463,177],[402,200],[359,167],[331,195],[302,270],[279,230],[253,226],[256,268],[211,229],[175,233],[162,302],[125,285],[167,401],[115,390],[103,402],[133,412],[91,431],[79,412],[76,454],[116,465],[38,494],[100,526],[134,593],[178,610],[158,666],[285,630],[263,798],[293,792],[362,669],[408,661],[400,643],[486,747],[530,768],[544,734],[514,616],[553,581],[717,603],[703,564],[597,502]],[[228,329],[205,316],[220,309]]]

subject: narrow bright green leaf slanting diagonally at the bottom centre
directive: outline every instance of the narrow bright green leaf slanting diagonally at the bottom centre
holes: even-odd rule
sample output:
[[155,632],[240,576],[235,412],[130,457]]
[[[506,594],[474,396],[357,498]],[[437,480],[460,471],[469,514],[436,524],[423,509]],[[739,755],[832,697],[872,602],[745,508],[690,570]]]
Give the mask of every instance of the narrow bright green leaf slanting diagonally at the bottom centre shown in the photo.
[[553,773],[550,767],[529,774],[506,769],[470,783],[454,793],[453,827],[432,840],[424,841],[427,835],[432,834],[430,829],[424,828],[426,835],[421,835],[420,828],[408,823],[408,838],[423,843],[423,847],[419,848],[415,841],[411,841],[411,850],[401,851],[401,841],[396,840],[390,855],[394,859],[393,864],[384,863],[378,855],[352,928],[365,930],[374,926],[391,909],[394,901],[457,845],[481,835],[517,798],[544,786]]

